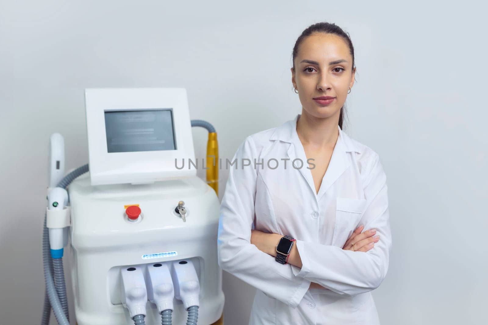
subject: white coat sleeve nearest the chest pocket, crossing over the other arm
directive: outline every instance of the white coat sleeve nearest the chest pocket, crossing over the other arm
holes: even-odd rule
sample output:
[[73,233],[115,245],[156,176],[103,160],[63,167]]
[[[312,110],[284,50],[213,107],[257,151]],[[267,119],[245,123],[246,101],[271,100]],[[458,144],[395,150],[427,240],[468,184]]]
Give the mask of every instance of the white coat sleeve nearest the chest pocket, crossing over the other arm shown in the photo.
[[380,240],[367,252],[297,240],[303,266],[292,266],[295,275],[350,296],[371,291],[385,279],[392,243],[386,174],[377,154],[364,184],[366,210],[359,224],[377,229]]

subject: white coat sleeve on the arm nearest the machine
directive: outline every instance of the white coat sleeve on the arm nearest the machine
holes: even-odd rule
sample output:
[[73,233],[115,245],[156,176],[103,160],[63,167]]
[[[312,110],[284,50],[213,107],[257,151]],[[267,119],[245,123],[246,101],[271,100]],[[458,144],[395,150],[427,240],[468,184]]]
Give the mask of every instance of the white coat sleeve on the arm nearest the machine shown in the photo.
[[[251,165],[243,168],[245,158]],[[277,263],[273,256],[250,243],[255,216],[256,158],[256,146],[248,136],[232,159],[237,159],[237,169],[230,167],[221,203],[217,240],[219,266],[267,296],[296,308],[310,281],[295,276],[290,264]]]

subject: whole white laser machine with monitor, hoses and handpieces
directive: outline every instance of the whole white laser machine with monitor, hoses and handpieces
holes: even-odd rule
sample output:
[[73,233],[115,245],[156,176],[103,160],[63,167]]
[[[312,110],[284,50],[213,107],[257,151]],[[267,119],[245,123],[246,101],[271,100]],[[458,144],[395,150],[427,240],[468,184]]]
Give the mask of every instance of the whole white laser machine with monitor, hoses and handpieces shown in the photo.
[[215,130],[190,120],[183,88],[86,89],[85,105],[89,165],[65,175],[63,138],[51,135],[42,324],[51,308],[69,324],[68,244],[78,325],[223,324],[218,183],[189,163],[191,127],[209,130],[207,166]]

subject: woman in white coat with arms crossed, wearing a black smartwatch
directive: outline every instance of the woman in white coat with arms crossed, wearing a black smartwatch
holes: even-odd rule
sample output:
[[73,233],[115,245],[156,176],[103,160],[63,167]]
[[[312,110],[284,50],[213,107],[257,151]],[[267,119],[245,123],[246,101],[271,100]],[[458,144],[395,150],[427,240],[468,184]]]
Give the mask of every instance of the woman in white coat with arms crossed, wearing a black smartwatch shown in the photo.
[[355,71],[341,28],[305,29],[291,68],[302,113],[234,155],[219,265],[257,288],[249,324],[380,324],[371,290],[391,252],[386,175],[378,154],[342,131]]

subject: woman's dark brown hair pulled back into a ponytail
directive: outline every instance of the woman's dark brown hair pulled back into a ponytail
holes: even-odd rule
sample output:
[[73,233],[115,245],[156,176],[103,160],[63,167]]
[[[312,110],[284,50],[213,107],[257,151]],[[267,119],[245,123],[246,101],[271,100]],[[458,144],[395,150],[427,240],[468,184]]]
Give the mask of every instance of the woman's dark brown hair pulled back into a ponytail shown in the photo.
[[[334,23],[318,22],[316,24],[308,26],[302,32],[302,35],[300,35],[297,38],[297,41],[295,42],[295,46],[293,47],[293,53],[292,53],[293,71],[295,70],[295,57],[297,57],[298,48],[300,47],[302,42],[305,40],[305,38],[309,37],[313,33],[334,34],[334,35],[337,35],[337,36],[343,38],[346,41],[346,44],[349,47],[349,51],[350,51],[350,54],[352,56],[352,67],[353,67],[353,69],[355,68],[355,66],[354,66],[354,47],[352,46],[352,42],[351,42],[351,38],[349,37],[349,34],[345,31],[343,31],[341,27],[337,26]],[[343,119],[344,119],[344,113],[346,113],[346,109],[343,106],[343,107],[341,107],[341,113],[339,115],[339,126],[341,127],[341,129],[342,129],[342,124],[343,124]]]

